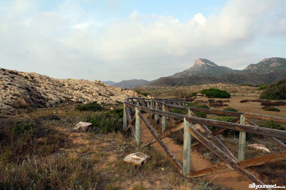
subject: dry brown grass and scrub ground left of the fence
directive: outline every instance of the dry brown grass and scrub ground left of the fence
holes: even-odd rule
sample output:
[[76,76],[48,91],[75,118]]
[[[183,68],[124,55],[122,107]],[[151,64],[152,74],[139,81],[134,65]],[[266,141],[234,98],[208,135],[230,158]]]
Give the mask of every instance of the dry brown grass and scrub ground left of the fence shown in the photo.
[[[73,132],[74,124],[94,114],[75,106],[1,114],[0,189],[226,189],[183,178],[163,153],[137,145],[130,134]],[[151,156],[150,162],[123,162],[136,151]]]

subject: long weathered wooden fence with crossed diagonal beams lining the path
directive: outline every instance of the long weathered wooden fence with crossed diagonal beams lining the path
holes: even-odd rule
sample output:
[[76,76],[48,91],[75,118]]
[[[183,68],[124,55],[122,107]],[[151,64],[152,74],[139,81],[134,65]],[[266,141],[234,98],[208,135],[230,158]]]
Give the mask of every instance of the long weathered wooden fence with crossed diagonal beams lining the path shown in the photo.
[[[264,185],[262,181],[256,178],[251,172],[247,170],[248,167],[270,164],[277,162],[286,161],[286,145],[279,141],[277,138],[286,139],[286,131],[269,129],[264,127],[259,127],[254,124],[249,119],[257,119],[263,121],[274,121],[286,124],[286,118],[274,117],[268,115],[259,115],[253,113],[243,113],[243,112],[232,112],[223,110],[212,110],[203,109],[195,107],[186,107],[186,100],[182,99],[145,99],[145,98],[127,98],[124,102],[124,119],[123,119],[123,129],[128,131],[130,129],[133,138],[137,143],[141,143],[140,140],[140,127],[141,122],[150,131],[152,137],[142,144],[142,146],[148,146],[152,143],[159,143],[161,147],[167,153],[167,156],[172,161],[174,166],[178,171],[186,177],[199,177],[204,175],[210,175],[220,172],[227,172],[230,170],[235,170],[245,179],[256,183],[257,185]],[[186,115],[171,113],[168,108],[176,108],[181,110],[187,110]],[[229,115],[237,117],[233,122],[217,121],[206,118],[198,118],[193,112],[202,112],[209,114],[220,114]],[[157,134],[148,121],[144,118],[141,112],[150,113],[151,117],[154,118],[156,123],[161,123],[162,133]],[[134,115],[133,115],[134,114]],[[133,117],[132,117],[133,115]],[[170,119],[172,126],[166,129],[166,119]],[[135,126],[134,126],[135,123]],[[203,131],[206,133],[203,136],[195,128],[193,124],[199,124]],[[206,126],[218,127],[216,131],[211,131]],[[238,158],[236,158],[229,149],[216,137],[217,134],[222,133],[226,129],[231,129],[239,131],[239,147],[238,147]],[[183,131],[183,132],[182,132]],[[161,140],[170,134],[178,132],[179,135],[184,139],[183,148],[183,166],[178,162],[176,157],[167,148],[164,142]],[[281,149],[279,153],[272,153],[266,156],[260,156],[248,160],[244,160],[245,154],[245,136],[246,132],[262,135],[271,143],[276,145]],[[192,137],[195,137],[198,141],[191,143]],[[210,140],[212,140],[212,143]],[[203,170],[190,172],[190,158],[191,158],[191,148],[202,143],[204,146],[209,148],[210,151],[215,153],[220,159],[222,159],[226,164],[206,168]],[[269,189],[269,188],[265,188]]]

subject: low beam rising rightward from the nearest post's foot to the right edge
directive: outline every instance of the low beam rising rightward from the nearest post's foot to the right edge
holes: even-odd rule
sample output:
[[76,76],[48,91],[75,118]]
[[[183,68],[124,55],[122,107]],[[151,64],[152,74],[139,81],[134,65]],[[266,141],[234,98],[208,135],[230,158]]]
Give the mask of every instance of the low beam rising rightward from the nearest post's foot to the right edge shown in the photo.
[[[260,156],[260,157],[256,157],[256,158],[252,158],[248,160],[243,160],[243,161],[237,162],[237,165],[243,168],[248,168],[248,167],[258,166],[262,164],[272,164],[272,163],[285,162],[285,161],[286,161],[286,151],[283,151],[279,153],[268,154],[266,156]],[[231,167],[229,167],[227,164],[223,164],[223,165],[212,167],[212,168],[190,172],[188,173],[188,177],[195,178],[195,177],[200,177],[204,175],[227,172],[231,170],[233,170]]]

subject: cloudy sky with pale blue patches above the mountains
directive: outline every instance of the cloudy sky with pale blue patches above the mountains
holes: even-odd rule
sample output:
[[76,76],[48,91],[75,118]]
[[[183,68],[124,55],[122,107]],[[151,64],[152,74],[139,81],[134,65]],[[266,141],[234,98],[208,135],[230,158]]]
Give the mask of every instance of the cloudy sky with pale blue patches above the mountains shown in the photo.
[[0,0],[0,66],[54,78],[154,80],[206,58],[286,58],[286,1]]

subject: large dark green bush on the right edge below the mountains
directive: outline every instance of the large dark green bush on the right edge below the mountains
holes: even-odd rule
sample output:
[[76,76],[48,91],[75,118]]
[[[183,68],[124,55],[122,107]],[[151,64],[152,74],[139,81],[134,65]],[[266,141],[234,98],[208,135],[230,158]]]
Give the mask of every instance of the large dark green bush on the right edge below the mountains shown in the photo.
[[261,92],[260,99],[285,100],[286,99],[286,79],[271,83]]

